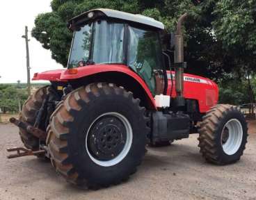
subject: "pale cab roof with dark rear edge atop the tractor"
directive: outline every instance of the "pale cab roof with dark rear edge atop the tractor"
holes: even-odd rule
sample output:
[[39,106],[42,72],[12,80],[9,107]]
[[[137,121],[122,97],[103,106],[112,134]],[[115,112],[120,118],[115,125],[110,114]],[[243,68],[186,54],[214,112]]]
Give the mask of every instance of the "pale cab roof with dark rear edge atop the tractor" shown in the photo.
[[[90,13],[90,15],[88,15]],[[88,20],[90,18],[93,18],[94,16],[106,16],[106,17],[111,17],[115,19],[123,19],[127,20],[129,22],[136,22],[139,24],[145,24],[146,26],[152,26],[154,28],[160,28],[164,29],[163,23],[151,18],[151,17],[146,17],[144,15],[134,15],[128,12],[122,12],[118,10],[112,10],[112,9],[107,9],[107,8],[98,8],[94,10],[89,10],[87,12],[83,12],[81,15],[78,15],[77,17],[74,17],[70,19],[69,24],[72,24],[73,22],[77,22],[85,17],[88,17]],[[93,17],[92,17],[93,16]]]

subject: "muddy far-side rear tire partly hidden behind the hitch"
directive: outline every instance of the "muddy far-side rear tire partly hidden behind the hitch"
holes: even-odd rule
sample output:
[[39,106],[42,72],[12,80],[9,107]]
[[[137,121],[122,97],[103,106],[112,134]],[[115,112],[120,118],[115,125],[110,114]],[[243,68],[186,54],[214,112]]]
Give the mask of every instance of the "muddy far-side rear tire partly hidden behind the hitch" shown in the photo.
[[[38,89],[33,95],[31,95],[24,103],[22,107],[22,112],[19,113],[19,120],[31,124],[35,123],[35,117],[37,111],[42,106],[42,101],[47,95],[48,86]],[[33,151],[39,148],[39,139],[28,133],[23,128],[19,128],[19,135],[27,149],[32,149]]]

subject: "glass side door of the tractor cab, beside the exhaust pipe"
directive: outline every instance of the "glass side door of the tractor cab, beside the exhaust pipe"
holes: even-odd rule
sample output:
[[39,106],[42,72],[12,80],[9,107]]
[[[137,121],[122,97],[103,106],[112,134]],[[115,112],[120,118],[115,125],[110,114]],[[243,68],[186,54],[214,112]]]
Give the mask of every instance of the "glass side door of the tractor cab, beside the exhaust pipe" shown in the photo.
[[127,65],[147,84],[152,95],[163,94],[165,78],[159,31],[129,26]]

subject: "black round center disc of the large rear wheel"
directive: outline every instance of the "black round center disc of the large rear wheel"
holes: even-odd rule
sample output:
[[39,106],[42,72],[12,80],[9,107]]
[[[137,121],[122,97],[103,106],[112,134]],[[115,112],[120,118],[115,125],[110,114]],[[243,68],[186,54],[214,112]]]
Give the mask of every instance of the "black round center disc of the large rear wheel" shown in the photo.
[[102,116],[88,132],[88,151],[97,160],[112,160],[122,152],[126,140],[125,124],[118,117]]

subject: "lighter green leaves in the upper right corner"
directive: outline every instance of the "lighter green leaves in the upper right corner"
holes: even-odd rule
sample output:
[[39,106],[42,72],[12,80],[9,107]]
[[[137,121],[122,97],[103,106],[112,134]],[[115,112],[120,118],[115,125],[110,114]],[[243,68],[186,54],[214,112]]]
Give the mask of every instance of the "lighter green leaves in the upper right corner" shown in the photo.
[[[256,1],[218,1],[213,22],[216,34],[223,39],[225,47],[254,50],[256,45]],[[256,52],[255,52],[256,53]]]

